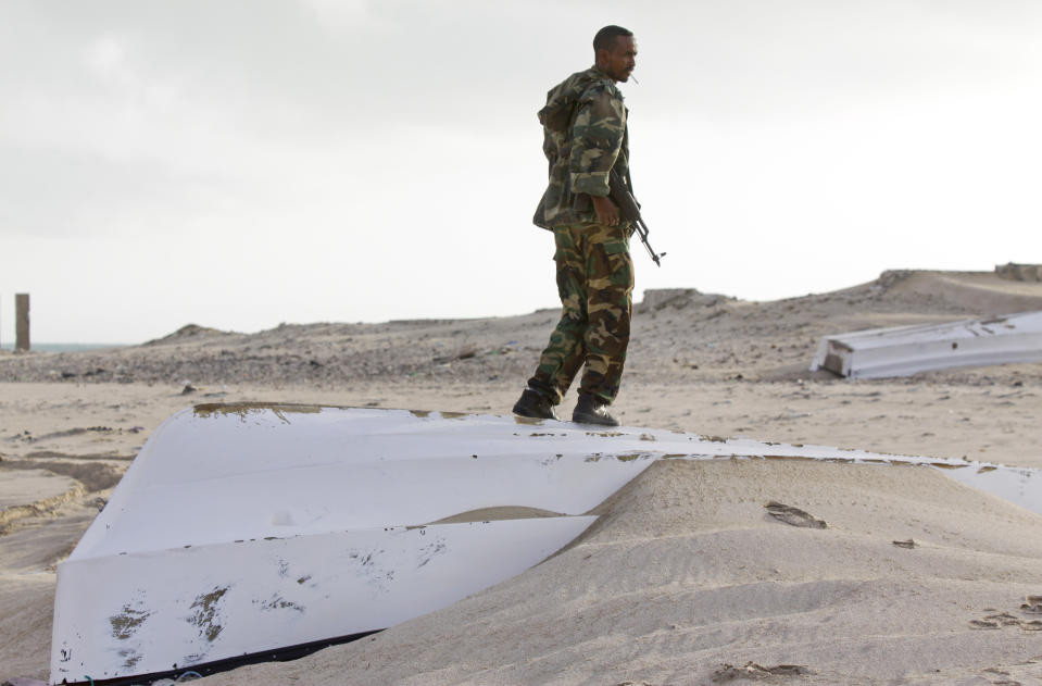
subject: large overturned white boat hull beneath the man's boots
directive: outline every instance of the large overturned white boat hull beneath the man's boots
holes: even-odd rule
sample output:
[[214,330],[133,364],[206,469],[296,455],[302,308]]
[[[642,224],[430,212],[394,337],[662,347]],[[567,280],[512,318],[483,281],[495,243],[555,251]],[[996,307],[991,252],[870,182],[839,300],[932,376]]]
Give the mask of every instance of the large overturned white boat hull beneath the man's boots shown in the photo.
[[655,459],[719,457],[931,462],[487,415],[180,412],[59,566],[51,683],[205,673],[386,628],[538,564]]

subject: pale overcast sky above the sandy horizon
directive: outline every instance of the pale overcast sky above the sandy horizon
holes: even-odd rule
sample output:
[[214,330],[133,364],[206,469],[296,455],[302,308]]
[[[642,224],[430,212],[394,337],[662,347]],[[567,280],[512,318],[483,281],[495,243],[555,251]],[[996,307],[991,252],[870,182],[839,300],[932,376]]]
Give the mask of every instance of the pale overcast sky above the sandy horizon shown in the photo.
[[0,0],[0,341],[556,307],[536,112],[613,23],[638,300],[1042,262],[1034,0]]

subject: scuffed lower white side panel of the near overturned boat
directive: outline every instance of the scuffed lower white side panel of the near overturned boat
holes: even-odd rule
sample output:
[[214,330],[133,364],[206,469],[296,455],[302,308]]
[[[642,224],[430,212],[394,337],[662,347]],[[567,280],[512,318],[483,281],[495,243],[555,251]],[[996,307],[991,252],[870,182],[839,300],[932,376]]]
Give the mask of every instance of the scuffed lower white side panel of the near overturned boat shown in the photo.
[[59,570],[51,681],[156,673],[392,626],[538,564],[595,519],[339,532],[72,561]]

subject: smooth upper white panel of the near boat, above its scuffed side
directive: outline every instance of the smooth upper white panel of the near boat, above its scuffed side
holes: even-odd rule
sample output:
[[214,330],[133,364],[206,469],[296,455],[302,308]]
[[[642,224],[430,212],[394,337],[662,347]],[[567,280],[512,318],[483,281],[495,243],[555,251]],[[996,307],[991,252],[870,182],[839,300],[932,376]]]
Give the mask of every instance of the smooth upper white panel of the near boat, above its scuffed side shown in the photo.
[[[71,560],[236,539],[413,526],[480,508],[578,514],[643,471],[588,459],[586,429],[305,406],[167,420]],[[568,426],[568,425],[562,425]],[[567,440],[562,440],[567,431]],[[628,441],[616,453],[637,450]]]

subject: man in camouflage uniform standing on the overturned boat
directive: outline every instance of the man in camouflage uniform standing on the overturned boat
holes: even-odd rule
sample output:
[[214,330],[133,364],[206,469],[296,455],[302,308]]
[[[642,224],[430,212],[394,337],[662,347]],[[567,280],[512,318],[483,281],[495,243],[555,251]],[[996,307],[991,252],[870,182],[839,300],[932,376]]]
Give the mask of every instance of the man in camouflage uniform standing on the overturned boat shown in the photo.
[[594,65],[550,90],[539,111],[550,184],[532,221],[554,235],[562,311],[514,413],[557,419],[554,406],[585,364],[572,420],[617,426],[606,408],[618,394],[629,342],[633,227],[608,197],[608,175],[627,177],[628,111],[615,84],[629,79],[637,42],[632,32],[605,26],[593,53]]

